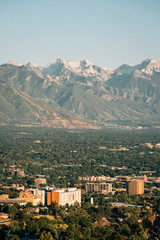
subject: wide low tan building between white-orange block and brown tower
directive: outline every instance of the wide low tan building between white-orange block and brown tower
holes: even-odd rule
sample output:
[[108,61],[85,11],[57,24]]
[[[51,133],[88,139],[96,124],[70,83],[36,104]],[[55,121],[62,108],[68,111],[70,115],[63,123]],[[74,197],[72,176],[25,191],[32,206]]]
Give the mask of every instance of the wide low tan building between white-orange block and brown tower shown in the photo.
[[86,192],[112,192],[112,183],[87,183]]

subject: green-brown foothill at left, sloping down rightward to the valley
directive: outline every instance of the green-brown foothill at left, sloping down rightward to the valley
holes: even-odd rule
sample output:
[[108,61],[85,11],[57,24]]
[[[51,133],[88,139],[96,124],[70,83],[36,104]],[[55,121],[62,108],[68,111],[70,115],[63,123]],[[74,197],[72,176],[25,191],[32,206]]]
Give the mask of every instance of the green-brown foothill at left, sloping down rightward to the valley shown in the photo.
[[5,123],[41,124],[56,127],[93,127],[78,116],[48,105],[0,83],[0,120]]

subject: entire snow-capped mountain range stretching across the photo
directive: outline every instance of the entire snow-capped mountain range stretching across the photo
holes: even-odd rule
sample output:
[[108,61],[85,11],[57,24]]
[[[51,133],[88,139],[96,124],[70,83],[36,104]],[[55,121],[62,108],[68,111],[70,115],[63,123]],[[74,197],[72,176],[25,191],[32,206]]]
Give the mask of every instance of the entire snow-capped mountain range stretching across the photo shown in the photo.
[[[3,120],[14,116],[29,122],[37,121],[38,116],[38,121],[45,124],[54,120],[51,112],[56,111],[59,120],[94,120],[94,124],[107,120],[160,120],[160,62],[150,59],[116,70],[88,61],[57,59],[44,68],[35,63],[10,62],[0,65],[0,83]],[[14,100],[9,102],[11,95]]]

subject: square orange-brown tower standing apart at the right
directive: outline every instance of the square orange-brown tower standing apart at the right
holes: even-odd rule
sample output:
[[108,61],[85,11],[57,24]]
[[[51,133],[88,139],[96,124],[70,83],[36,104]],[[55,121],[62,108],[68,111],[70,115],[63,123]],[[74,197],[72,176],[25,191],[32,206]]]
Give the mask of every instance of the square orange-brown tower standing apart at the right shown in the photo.
[[139,195],[144,193],[144,180],[143,179],[131,179],[128,182],[129,195]]

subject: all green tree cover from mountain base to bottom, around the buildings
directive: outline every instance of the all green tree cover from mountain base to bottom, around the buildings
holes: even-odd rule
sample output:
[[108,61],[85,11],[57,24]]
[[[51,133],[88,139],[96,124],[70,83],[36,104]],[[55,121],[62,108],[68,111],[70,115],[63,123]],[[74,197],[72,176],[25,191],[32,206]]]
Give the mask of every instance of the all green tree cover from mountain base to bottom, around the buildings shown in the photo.
[[[0,127],[0,194],[17,197],[12,184],[29,187],[35,175],[45,175],[48,185],[75,186],[79,176],[160,175],[160,130],[63,130],[52,128]],[[151,143],[152,148],[144,146]],[[121,167],[124,167],[120,169]],[[119,168],[113,168],[119,167]],[[13,176],[15,169],[25,177]],[[6,188],[12,186],[12,188]],[[83,188],[84,185],[82,185]],[[152,185],[146,185],[146,187]],[[158,184],[154,184],[158,186]],[[121,187],[121,183],[114,183]],[[90,203],[93,197],[94,204]],[[141,205],[142,208],[111,207],[111,202]],[[160,239],[160,199],[152,193],[129,197],[126,192],[105,198],[82,189],[82,206],[58,207],[53,203],[43,217],[34,208],[2,205],[10,225],[0,226],[0,239],[97,240]],[[50,219],[45,215],[52,216]]]

